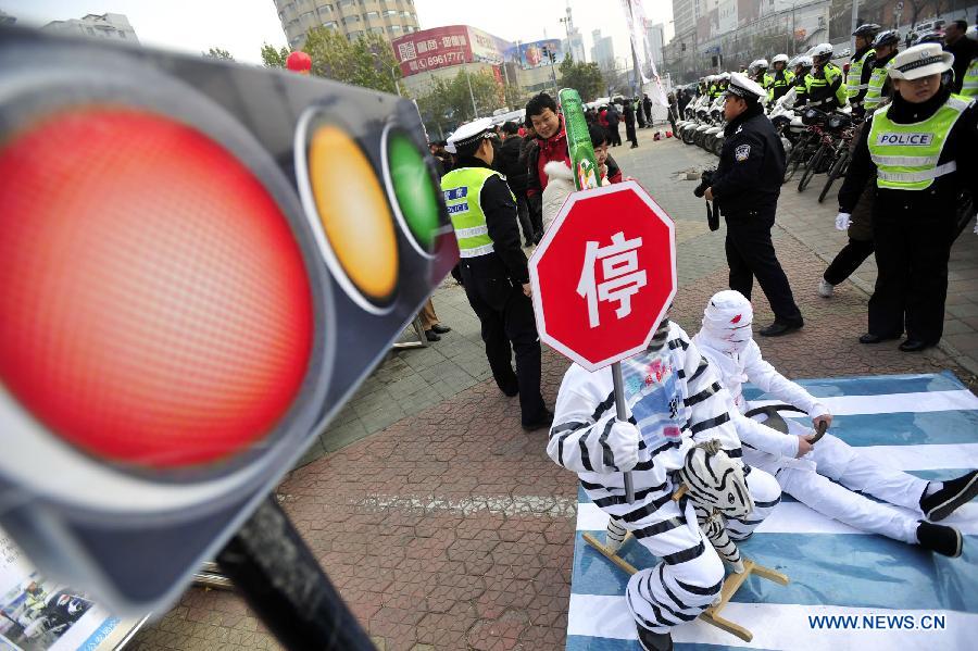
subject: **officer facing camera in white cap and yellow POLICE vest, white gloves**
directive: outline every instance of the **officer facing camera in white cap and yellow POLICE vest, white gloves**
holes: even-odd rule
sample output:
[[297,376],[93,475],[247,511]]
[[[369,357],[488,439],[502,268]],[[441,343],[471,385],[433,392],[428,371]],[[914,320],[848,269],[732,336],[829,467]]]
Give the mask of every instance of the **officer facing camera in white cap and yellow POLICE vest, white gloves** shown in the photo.
[[893,101],[863,129],[839,190],[844,217],[876,173],[879,273],[863,343],[896,339],[906,330],[900,350],[912,352],[935,346],[943,333],[957,198],[962,190],[978,190],[978,109],[973,98],[941,84],[953,61],[937,43],[893,59]]

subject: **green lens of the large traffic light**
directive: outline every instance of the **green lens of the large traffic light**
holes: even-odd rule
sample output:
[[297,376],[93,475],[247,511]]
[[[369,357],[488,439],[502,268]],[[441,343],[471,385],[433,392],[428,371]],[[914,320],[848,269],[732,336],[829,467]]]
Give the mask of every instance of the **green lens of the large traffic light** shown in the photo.
[[438,188],[422,153],[404,134],[391,133],[387,142],[390,180],[398,206],[418,245],[430,252],[438,233]]

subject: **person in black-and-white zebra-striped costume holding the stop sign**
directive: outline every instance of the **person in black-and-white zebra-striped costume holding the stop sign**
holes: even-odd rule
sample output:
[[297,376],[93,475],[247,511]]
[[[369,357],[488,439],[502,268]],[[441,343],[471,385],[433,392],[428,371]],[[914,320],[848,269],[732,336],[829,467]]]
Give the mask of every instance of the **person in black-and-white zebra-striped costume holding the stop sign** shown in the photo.
[[[650,347],[622,362],[628,422],[617,421],[611,368],[573,364],[561,384],[547,452],[577,473],[591,500],[662,559],[628,581],[626,601],[643,649],[672,649],[669,629],[695,619],[718,594],[724,565],[705,544],[693,504],[674,501],[677,477],[699,442],[716,440],[742,466],[732,400],[682,329],[664,318]],[[631,471],[635,502],[625,497]],[[777,481],[743,467],[754,509],[738,521],[747,536],[777,505]],[[734,519],[729,519],[730,523]],[[623,534],[624,537],[624,534]]]

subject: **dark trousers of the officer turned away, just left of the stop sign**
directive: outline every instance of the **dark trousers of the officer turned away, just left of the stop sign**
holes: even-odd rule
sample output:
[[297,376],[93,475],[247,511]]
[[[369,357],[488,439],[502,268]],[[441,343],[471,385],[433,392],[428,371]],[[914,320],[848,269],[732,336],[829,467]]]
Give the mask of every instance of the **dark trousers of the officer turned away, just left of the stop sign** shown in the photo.
[[[534,318],[534,304],[522,287],[502,278],[473,273],[462,260],[462,284],[468,303],[482,326],[482,341],[492,377],[507,396],[519,393],[523,423],[539,421],[546,412],[540,393],[540,338]],[[513,373],[513,353],[516,372]]]

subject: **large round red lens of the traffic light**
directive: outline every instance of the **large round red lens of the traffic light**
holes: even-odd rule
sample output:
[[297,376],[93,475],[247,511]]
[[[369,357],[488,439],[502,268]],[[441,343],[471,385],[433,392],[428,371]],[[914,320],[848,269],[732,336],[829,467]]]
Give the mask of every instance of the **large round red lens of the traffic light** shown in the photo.
[[45,117],[0,148],[0,383],[88,453],[143,467],[263,439],[310,363],[281,210],[204,134],[140,110]]

